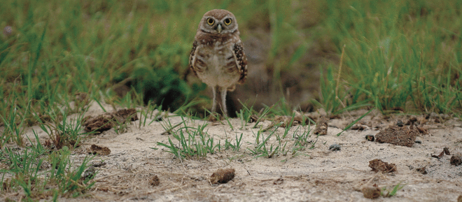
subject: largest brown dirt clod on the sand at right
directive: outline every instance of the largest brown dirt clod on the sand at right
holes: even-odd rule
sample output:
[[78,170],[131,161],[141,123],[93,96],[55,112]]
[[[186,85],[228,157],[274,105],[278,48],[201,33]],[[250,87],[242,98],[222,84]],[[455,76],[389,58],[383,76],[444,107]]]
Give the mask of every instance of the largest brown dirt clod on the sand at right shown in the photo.
[[417,134],[419,134],[419,131],[414,129],[412,126],[391,126],[381,130],[379,134],[375,135],[375,138],[377,138],[377,142],[379,143],[390,143],[393,145],[412,147],[415,143]]

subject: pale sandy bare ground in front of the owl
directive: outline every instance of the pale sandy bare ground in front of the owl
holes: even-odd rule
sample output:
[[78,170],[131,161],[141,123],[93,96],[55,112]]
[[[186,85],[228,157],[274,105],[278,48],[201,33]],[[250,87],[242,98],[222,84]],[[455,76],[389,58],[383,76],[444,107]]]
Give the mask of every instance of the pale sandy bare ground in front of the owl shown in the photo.
[[[110,108],[106,106],[106,109]],[[426,119],[423,127],[428,134],[419,134],[412,147],[377,143],[365,139],[366,135],[376,135],[380,129],[395,124],[398,120],[406,122],[409,115],[381,115],[372,111],[360,121],[365,129],[346,130],[336,136],[346,125],[363,115],[367,110],[358,110],[351,114],[340,115],[328,121],[328,134],[316,136],[314,125],[295,126],[286,138],[285,150],[290,150],[295,142],[293,134],[308,132],[313,148],[274,155],[271,158],[255,157],[249,149],[255,147],[258,128],[253,124],[241,127],[241,120],[231,119],[234,129],[228,122],[209,124],[204,129],[224,145],[228,138],[235,143],[236,135],[242,134],[239,151],[223,150],[208,154],[205,158],[178,159],[168,149],[158,145],[168,143],[172,135],[162,135],[162,125],[183,122],[190,127],[203,125],[201,120],[188,120],[172,115],[157,122],[148,118],[146,126],[139,127],[139,121],[128,124],[123,133],[114,129],[92,134],[83,141],[83,145],[73,151],[73,164],[78,165],[87,155],[92,144],[108,147],[111,153],[97,155],[90,164],[97,167],[96,182],[92,189],[76,199],[61,198],[59,201],[457,201],[462,194],[462,165],[449,163],[451,155],[437,159],[431,154],[440,154],[449,147],[451,154],[462,152],[462,122],[453,117],[433,115]],[[86,115],[98,115],[102,110],[92,106]],[[322,114],[322,113],[321,113]],[[318,117],[320,113],[309,116]],[[138,113],[138,117],[140,114]],[[154,118],[154,117],[153,117]],[[419,120],[425,119],[416,115]],[[141,117],[144,121],[144,117]],[[148,123],[150,123],[148,125]],[[263,128],[272,122],[265,120],[259,125]],[[180,127],[179,127],[180,128]],[[48,136],[38,131],[45,140]],[[268,136],[274,129],[266,131]],[[284,128],[276,131],[282,136]],[[31,135],[31,131],[28,132]],[[267,147],[276,143],[276,136],[268,141]],[[340,145],[340,150],[329,150],[330,145]],[[157,148],[157,150],[153,149]],[[375,173],[369,167],[369,161],[381,159],[395,164],[397,171]],[[426,167],[428,173],[422,174],[416,168]],[[209,177],[218,168],[234,168],[235,178],[228,183],[211,185]],[[160,184],[151,185],[154,176]],[[360,192],[365,186],[377,185],[388,191],[395,185],[405,185],[395,196],[378,199],[366,199]],[[10,199],[12,196],[10,196]]]

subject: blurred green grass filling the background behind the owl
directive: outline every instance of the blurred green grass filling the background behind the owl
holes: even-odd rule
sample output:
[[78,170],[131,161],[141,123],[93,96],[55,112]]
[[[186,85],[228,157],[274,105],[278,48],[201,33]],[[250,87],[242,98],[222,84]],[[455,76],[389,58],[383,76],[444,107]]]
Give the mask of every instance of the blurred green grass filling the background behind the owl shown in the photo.
[[[244,41],[255,29],[267,31],[266,64],[274,80],[304,65],[300,60],[310,57],[313,44],[321,47],[318,55],[333,49],[339,56],[345,46],[341,72],[336,59],[318,64],[321,93],[315,102],[329,113],[376,106],[384,113],[460,115],[461,6],[461,1],[6,0],[0,7],[0,115],[30,125],[34,115],[63,107],[77,112],[91,100],[124,106],[151,101],[172,111],[207,101],[201,96],[206,86],[186,82],[185,75],[197,23],[214,8],[235,13]],[[121,86],[130,92],[118,92]]]

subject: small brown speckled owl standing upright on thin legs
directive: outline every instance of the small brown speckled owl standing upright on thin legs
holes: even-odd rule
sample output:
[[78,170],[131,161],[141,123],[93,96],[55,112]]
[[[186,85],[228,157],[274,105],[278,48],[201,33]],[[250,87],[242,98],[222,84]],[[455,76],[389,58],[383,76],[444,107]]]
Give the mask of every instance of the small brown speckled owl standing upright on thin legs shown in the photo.
[[189,66],[202,82],[214,92],[212,112],[216,112],[216,92],[221,92],[223,115],[226,110],[226,92],[233,91],[247,76],[247,58],[239,38],[235,15],[228,10],[210,10],[200,20]]

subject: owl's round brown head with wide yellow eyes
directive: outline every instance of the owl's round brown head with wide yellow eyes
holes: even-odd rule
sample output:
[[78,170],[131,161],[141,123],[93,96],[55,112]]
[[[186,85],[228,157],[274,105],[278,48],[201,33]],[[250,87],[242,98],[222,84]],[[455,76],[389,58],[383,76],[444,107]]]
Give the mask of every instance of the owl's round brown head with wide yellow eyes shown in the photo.
[[237,30],[236,17],[228,10],[210,10],[202,17],[199,29],[209,34],[231,34]]

